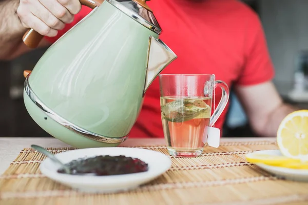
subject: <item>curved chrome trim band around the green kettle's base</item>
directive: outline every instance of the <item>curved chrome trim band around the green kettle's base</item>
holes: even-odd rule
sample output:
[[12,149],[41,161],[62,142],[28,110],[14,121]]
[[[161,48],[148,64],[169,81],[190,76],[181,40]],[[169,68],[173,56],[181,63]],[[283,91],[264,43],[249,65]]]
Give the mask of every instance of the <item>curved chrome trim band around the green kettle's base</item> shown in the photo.
[[77,134],[80,134],[84,137],[87,137],[89,139],[99,141],[99,142],[105,142],[105,143],[108,143],[108,144],[119,144],[119,143],[125,141],[127,139],[127,137],[129,136],[129,135],[126,135],[124,137],[119,137],[119,138],[118,137],[102,136],[102,135],[90,132],[88,130],[82,129],[82,128],[72,124],[71,122],[65,120],[61,116],[57,115],[51,109],[49,109],[46,105],[44,105],[42,103],[42,101],[34,94],[33,90],[31,89],[31,87],[29,85],[30,74],[27,75],[27,77],[25,79],[25,83],[24,83],[24,87],[25,87],[25,91],[26,91],[27,95],[33,101],[33,103],[44,112],[44,114],[46,114],[48,117],[50,117],[51,119],[53,119],[54,121],[56,121],[57,123],[62,125],[63,127],[67,128],[67,129],[69,129],[69,130],[71,130],[71,131],[73,131]]

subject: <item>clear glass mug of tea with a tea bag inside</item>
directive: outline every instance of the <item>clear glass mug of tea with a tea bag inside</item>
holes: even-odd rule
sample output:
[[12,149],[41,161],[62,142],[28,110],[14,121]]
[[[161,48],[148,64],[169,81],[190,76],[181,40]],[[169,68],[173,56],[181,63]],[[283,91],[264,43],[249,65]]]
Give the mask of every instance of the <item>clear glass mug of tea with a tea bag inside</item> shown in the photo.
[[[160,74],[159,83],[161,118],[169,154],[199,156],[208,127],[214,125],[227,105],[228,86],[208,74]],[[222,96],[211,115],[213,92],[217,87],[221,88]]]

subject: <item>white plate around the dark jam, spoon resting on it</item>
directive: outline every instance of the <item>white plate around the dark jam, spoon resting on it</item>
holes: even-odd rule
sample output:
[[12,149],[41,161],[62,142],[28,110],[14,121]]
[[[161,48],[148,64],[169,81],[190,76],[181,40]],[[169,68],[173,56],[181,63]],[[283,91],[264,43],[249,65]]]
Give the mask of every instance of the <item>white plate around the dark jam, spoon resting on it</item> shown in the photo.
[[148,163],[148,171],[134,174],[122,174],[111,176],[81,176],[57,173],[60,168],[49,158],[46,158],[40,166],[41,172],[47,177],[63,183],[75,190],[90,193],[110,193],[127,191],[139,187],[143,183],[166,172],[171,166],[170,157],[160,152],[139,149],[139,148],[89,148],[71,150],[56,154],[55,156],[62,162],[67,163],[80,157],[94,157],[98,155],[118,156],[139,158]]

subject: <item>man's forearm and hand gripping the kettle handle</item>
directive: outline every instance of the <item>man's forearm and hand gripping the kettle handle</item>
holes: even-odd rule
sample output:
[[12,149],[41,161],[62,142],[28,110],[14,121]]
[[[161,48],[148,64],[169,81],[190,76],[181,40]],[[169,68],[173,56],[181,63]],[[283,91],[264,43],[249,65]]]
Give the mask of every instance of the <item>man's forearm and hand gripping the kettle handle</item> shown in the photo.
[[[55,36],[80,9],[79,0],[0,0],[0,60],[30,51],[22,42],[27,28]],[[42,40],[40,47],[47,45],[47,40]]]

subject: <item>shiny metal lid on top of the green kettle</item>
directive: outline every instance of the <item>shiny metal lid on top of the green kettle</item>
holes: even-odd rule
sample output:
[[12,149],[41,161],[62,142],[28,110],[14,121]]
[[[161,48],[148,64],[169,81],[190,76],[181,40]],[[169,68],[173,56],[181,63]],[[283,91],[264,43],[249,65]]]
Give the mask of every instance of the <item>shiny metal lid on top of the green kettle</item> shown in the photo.
[[136,20],[151,31],[160,34],[162,29],[155,18],[153,11],[146,1],[150,0],[106,0],[111,5],[120,9],[123,13]]

